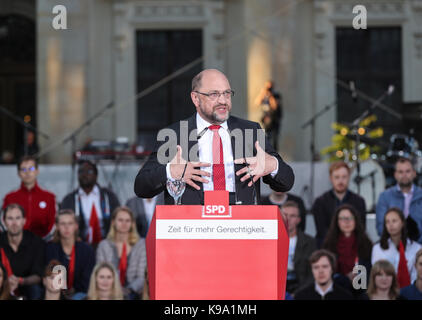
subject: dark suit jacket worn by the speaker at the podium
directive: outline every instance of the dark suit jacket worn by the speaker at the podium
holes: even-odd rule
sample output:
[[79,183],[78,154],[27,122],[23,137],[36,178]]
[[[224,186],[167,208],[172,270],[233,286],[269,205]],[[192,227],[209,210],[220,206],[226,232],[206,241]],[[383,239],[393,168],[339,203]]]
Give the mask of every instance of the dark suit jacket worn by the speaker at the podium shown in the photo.
[[[191,139],[192,138],[196,139],[197,137],[196,114],[193,114],[190,118],[188,118],[185,121],[187,121],[187,127],[188,127],[187,130],[188,130],[189,137]],[[233,152],[234,159],[236,159],[236,157],[239,157],[239,153],[241,153],[241,151],[243,151],[243,154],[241,155],[242,157],[243,156],[247,157],[247,156],[252,156],[252,155],[255,156],[256,155],[255,142],[257,141],[258,129],[261,129],[260,125],[256,122],[243,120],[243,119],[233,117],[233,116],[231,116],[227,120],[227,125],[230,132],[233,132],[233,130],[235,129],[240,129],[237,131],[241,131],[242,133],[245,133],[246,129],[252,129],[252,132],[253,132],[253,136],[252,136],[253,143],[245,143],[245,139],[244,139],[242,143],[242,147],[236,148],[236,151],[238,152],[238,154],[236,154],[235,152],[235,143],[239,145],[239,141],[236,141],[235,138],[232,136],[231,144],[232,144],[232,152]],[[181,131],[180,122],[176,122],[172,124],[167,129],[172,129],[176,133],[177,135],[176,145],[179,144],[182,146],[182,149],[183,149],[182,157],[186,160],[189,159],[189,161],[198,161],[199,160],[198,141],[197,140],[188,141],[187,148],[186,148],[186,141],[183,141],[183,140],[181,141],[180,139],[180,131]],[[193,130],[195,130],[195,134],[190,135],[190,133]],[[184,139],[187,139],[188,135],[186,135]],[[245,138],[247,136],[243,134],[243,137]],[[168,194],[167,188],[166,188],[166,181],[167,181],[166,164],[159,163],[157,159],[157,151],[165,143],[167,143],[169,147],[171,147],[168,152],[169,159],[172,159],[174,155],[176,154],[176,145],[174,145],[174,143],[169,143],[168,141],[169,141],[169,138],[167,138],[166,141],[158,141],[157,139],[157,143],[154,148],[154,151],[152,152],[147,162],[141,168],[138,175],[136,176],[134,189],[135,189],[135,194],[138,197],[152,198],[153,196],[164,191],[165,203],[166,204],[174,203],[173,199]],[[184,145],[185,145],[185,148],[183,148]],[[195,149],[192,149],[192,148],[195,148]],[[271,144],[268,142],[268,139],[266,138],[265,138],[265,151],[268,154],[275,156],[277,158],[278,172],[274,176],[274,178],[271,177],[271,175],[267,175],[263,177],[263,181],[269,184],[269,186],[273,190],[282,191],[282,192],[289,191],[292,188],[293,183],[294,183],[294,174],[293,174],[292,168],[281,159],[280,155],[274,150],[274,148],[271,146]],[[193,156],[194,159],[192,159],[192,154],[194,155]],[[190,155],[190,157],[188,157],[188,155]],[[244,165],[235,164],[234,171],[236,172],[243,167]],[[244,205],[253,204],[254,203],[254,188],[248,187],[248,181],[240,182],[240,179],[241,179],[241,176],[235,175],[235,190],[236,190],[237,200],[242,201],[242,204]],[[182,204],[191,204],[191,205],[203,204],[204,202],[203,184],[198,183],[198,182],[196,183],[200,186],[201,190],[196,190],[192,188],[191,186],[186,185],[186,190],[183,193],[183,196],[181,199]],[[255,190],[257,193],[256,196],[259,203],[260,202],[260,180],[258,180],[255,183]]]

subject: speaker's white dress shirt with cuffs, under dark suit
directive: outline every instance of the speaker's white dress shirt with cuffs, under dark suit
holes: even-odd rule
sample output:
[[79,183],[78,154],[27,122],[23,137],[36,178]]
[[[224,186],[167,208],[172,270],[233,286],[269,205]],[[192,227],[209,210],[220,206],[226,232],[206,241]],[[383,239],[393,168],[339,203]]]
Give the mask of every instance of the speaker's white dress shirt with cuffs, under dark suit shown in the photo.
[[[196,127],[197,132],[202,132],[206,127],[211,126],[212,124],[204,120],[199,113],[196,113]],[[223,144],[223,156],[224,156],[224,173],[226,177],[226,190],[229,192],[235,192],[235,172],[234,172],[234,159],[233,151],[231,145],[231,137],[229,133],[229,128],[227,126],[227,121],[224,121],[220,124],[221,128],[218,129],[218,134],[221,137],[221,142]],[[211,177],[204,177],[208,180],[208,183],[204,183],[204,191],[214,190],[214,183],[212,180],[212,164],[213,164],[213,153],[212,153],[212,141],[214,133],[212,130],[206,130],[202,137],[198,140],[198,150],[199,150],[199,161],[210,163],[209,167],[201,167],[203,171],[207,171],[211,174]],[[265,146],[262,146],[263,148]],[[275,158],[275,157],[274,157]],[[271,172],[271,176],[274,177],[278,172],[278,160],[277,168]],[[170,163],[166,166],[167,179],[173,179],[170,174]]]

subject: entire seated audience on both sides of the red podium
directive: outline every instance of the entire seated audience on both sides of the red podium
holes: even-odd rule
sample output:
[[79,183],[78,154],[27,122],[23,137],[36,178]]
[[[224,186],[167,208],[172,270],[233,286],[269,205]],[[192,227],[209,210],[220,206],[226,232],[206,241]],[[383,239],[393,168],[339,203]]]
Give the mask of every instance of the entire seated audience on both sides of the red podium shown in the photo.
[[[60,203],[37,184],[31,156],[17,164],[22,181],[3,200],[0,231],[0,299],[136,300],[148,296],[145,237],[163,197],[117,196],[97,183],[94,163],[78,166],[79,186]],[[397,184],[376,207],[372,243],[364,199],[348,189],[350,169],[331,164],[332,189],[311,208],[316,236],[305,234],[300,197],[273,192],[286,220],[289,255],[286,299],[422,299],[422,189],[410,160],[399,159]],[[65,273],[65,277],[62,272]],[[65,283],[58,285],[60,278]]]

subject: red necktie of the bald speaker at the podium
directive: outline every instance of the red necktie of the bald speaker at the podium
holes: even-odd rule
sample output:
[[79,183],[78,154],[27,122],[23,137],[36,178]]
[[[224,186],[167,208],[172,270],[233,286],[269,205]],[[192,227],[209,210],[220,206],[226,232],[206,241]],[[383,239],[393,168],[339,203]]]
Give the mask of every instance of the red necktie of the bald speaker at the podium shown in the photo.
[[223,154],[223,143],[221,137],[218,134],[218,129],[221,126],[212,125],[209,128],[214,133],[212,138],[212,170],[214,179],[214,190],[226,190],[226,175],[224,173],[224,154]]

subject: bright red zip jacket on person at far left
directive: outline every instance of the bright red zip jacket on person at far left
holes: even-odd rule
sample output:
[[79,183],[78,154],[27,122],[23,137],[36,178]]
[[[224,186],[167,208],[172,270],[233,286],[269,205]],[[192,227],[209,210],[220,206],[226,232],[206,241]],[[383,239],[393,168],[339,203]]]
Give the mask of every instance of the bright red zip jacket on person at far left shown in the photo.
[[11,203],[18,203],[25,210],[24,230],[29,230],[47,240],[51,237],[56,218],[54,194],[41,189],[37,183],[31,190],[22,183],[18,190],[6,195],[2,208],[6,208]]

